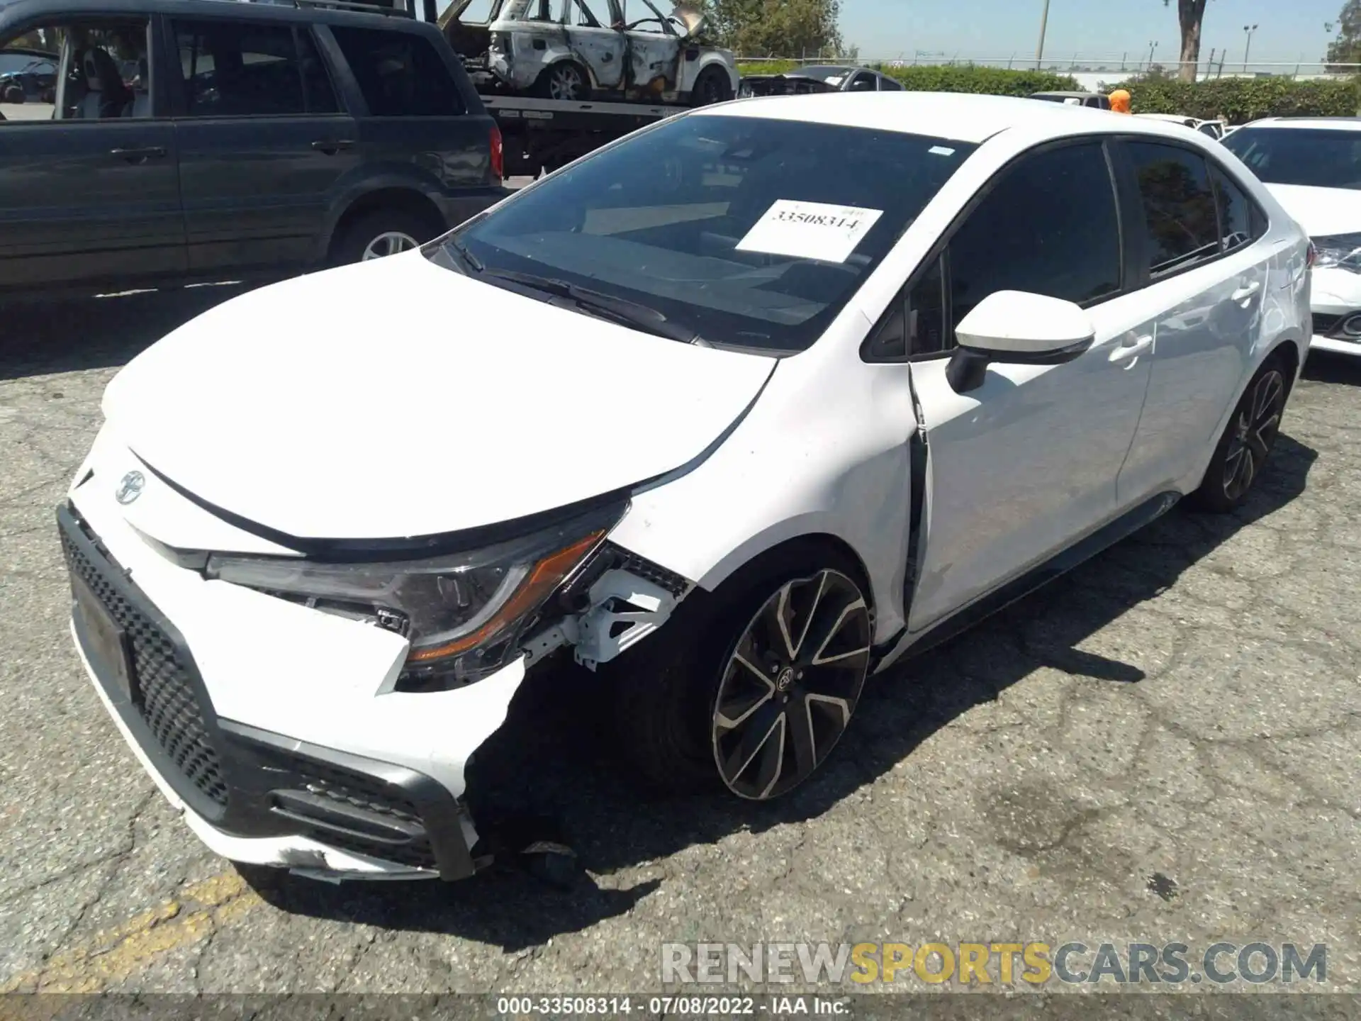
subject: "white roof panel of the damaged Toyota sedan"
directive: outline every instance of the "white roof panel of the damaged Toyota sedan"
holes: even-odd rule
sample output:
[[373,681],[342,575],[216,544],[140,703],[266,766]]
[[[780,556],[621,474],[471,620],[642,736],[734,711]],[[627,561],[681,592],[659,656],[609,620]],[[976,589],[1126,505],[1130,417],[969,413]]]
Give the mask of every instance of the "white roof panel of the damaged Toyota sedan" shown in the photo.
[[[1063,137],[1086,131],[1161,135],[1185,139],[1190,128],[1158,120],[1138,120],[1090,106],[1038,103],[1004,95],[970,93],[837,93],[773,95],[704,106],[690,116],[768,117],[772,120],[845,124],[852,128],[897,131],[905,135],[953,139],[980,144],[1013,128]],[[1119,120],[1115,120],[1119,118]]]

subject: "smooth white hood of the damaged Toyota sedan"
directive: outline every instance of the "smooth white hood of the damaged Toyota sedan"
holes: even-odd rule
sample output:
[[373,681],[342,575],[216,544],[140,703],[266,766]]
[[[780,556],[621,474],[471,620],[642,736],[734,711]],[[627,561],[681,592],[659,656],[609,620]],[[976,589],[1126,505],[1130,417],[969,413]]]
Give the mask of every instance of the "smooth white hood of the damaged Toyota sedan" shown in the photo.
[[132,359],[112,430],[201,501],[289,536],[508,521],[694,460],[776,359],[479,283],[419,252],[227,301]]

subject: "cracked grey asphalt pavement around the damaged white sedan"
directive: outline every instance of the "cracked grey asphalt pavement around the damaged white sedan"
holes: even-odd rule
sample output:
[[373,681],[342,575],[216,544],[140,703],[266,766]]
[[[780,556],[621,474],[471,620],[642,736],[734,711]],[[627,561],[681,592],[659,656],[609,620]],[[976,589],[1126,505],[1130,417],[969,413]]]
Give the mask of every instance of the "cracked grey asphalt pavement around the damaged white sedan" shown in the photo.
[[704,939],[1327,943],[1361,991],[1361,359],[1311,359],[1237,515],[1175,509],[876,679],[787,800],[640,796],[557,670],[479,768],[561,824],[569,888],[255,889],[83,677],[53,525],[117,368],[230,293],[0,317],[0,991],[649,991]]

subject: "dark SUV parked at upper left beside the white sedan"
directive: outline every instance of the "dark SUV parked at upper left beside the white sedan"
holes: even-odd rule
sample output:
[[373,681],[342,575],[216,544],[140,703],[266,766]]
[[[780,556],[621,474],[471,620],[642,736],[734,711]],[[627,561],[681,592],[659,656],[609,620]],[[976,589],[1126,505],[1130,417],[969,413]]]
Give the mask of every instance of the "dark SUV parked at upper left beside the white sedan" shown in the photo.
[[505,195],[453,50],[380,7],[0,0],[5,50],[57,68],[0,102],[0,298],[391,255]]

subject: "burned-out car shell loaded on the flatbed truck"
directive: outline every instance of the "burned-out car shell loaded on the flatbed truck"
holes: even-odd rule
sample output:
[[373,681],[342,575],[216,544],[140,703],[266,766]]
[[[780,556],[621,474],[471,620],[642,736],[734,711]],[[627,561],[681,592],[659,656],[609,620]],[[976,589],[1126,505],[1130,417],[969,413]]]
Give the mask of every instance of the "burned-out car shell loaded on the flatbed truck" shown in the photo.
[[700,42],[697,8],[663,15],[652,0],[627,3],[456,0],[440,27],[482,90],[694,106],[734,97],[736,59]]

